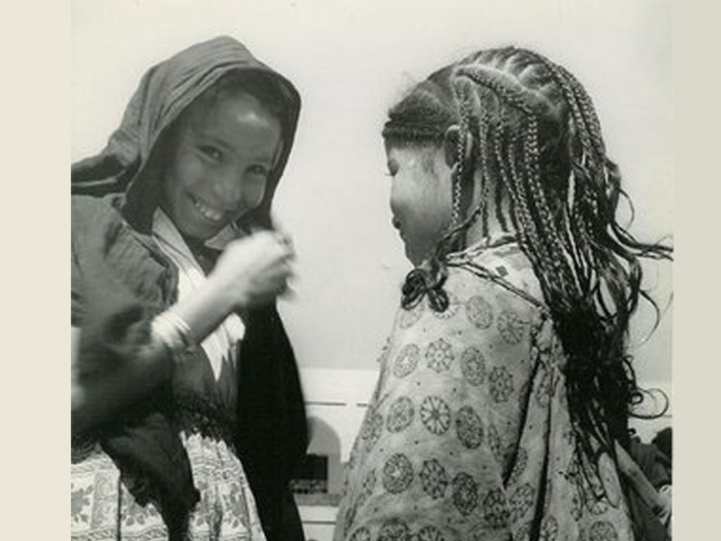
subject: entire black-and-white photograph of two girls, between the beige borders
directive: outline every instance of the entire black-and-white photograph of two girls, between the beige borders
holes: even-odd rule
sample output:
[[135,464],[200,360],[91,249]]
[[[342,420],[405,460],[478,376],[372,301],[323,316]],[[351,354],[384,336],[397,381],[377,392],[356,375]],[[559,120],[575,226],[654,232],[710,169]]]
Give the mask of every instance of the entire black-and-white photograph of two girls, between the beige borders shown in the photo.
[[71,0],[71,540],[671,540],[672,22]]

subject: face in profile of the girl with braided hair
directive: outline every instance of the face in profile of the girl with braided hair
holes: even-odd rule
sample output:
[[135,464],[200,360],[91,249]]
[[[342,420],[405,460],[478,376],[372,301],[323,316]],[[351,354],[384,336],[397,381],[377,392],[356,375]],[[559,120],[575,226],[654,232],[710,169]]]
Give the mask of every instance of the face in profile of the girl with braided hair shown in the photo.
[[393,226],[406,257],[418,266],[432,255],[451,223],[451,169],[441,148],[386,144],[392,177]]

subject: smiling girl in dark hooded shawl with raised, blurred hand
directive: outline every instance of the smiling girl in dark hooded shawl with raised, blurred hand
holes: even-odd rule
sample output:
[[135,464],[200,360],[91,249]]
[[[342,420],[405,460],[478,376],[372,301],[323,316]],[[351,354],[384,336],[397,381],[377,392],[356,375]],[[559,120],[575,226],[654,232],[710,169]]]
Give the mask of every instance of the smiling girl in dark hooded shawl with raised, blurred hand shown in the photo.
[[300,100],[231,38],[149,70],[72,171],[72,538],[302,539],[270,203]]

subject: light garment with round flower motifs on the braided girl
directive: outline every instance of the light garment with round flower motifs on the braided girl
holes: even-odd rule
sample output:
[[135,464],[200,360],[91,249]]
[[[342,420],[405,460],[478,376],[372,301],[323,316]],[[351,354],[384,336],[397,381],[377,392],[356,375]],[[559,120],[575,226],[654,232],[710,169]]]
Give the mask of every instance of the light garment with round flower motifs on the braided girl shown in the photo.
[[518,245],[454,255],[444,290],[446,312],[397,315],[335,540],[631,540],[611,459],[602,499],[579,470],[565,356]]

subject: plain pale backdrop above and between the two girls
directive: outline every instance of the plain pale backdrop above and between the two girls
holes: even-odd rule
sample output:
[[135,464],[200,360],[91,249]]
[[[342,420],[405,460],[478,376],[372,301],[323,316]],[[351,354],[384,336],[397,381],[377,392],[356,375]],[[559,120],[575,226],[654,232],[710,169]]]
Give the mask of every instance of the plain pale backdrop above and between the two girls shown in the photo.
[[[373,369],[408,270],[389,226],[379,130],[414,82],[474,49],[517,43],[565,64],[593,96],[636,203],[632,228],[671,226],[668,0],[72,1],[72,158],[99,150],[143,71],[228,33],[296,83],[297,144],[276,211],[298,250],[281,309],[302,366]],[[668,265],[650,281],[668,299]],[[639,342],[652,320],[639,318]],[[637,350],[643,380],[671,377],[671,311]]]

